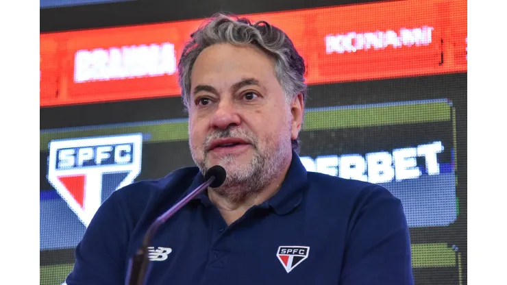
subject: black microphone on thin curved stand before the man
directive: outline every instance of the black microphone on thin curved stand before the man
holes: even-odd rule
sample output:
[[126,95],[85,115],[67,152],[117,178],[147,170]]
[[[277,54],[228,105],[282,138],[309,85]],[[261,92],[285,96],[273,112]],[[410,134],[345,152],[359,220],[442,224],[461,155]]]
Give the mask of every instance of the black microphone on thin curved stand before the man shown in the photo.
[[225,181],[226,173],[222,166],[212,166],[204,179],[206,182],[201,186],[195,188],[190,194],[186,195],[181,201],[177,202],[171,209],[160,215],[151,225],[149,226],[143,244],[137,250],[136,255],[129,260],[129,267],[127,271],[127,277],[125,279],[125,285],[144,285],[149,275],[149,260],[148,260],[148,247],[151,242],[151,238],[157,232],[158,227],[165,223],[171,216],[173,216],[178,210],[188,203],[195,196],[199,195],[204,189],[211,187],[217,188]]

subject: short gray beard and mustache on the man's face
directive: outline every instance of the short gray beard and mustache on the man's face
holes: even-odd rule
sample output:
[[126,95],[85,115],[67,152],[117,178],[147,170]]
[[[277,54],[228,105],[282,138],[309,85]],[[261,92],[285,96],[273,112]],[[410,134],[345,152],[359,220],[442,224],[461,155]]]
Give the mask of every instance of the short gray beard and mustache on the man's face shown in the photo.
[[[238,132],[243,133],[241,131]],[[227,129],[219,138],[231,136],[231,133],[233,133],[233,136],[238,136],[234,134],[237,132],[231,132],[230,129]],[[245,136],[238,137],[245,138]],[[227,176],[225,182],[220,187],[213,188],[213,190],[234,203],[245,201],[247,197],[255,196],[264,190],[266,186],[284,171],[284,164],[287,159],[286,151],[291,149],[290,136],[287,140],[277,142],[277,139],[279,138],[268,138],[267,147],[269,149],[267,149],[267,153],[264,156],[258,150],[257,141],[251,141],[254,155],[250,163],[246,165],[234,163],[236,159],[234,155],[222,156],[217,164],[224,167]],[[210,141],[211,138],[208,140]],[[213,166],[207,158],[206,151],[204,153],[204,160],[201,161],[196,160],[193,149],[190,148],[190,152],[201,173],[206,173]]]

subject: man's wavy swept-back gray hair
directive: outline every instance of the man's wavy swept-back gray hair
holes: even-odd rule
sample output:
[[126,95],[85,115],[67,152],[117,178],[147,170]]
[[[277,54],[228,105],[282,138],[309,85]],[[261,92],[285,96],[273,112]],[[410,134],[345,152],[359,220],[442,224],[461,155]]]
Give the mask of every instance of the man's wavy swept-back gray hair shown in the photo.
[[[203,49],[219,43],[250,44],[260,48],[275,59],[275,74],[286,95],[286,102],[298,94],[302,94],[303,101],[306,101],[308,91],[304,79],[304,60],[290,38],[266,21],[252,24],[247,18],[219,13],[190,35],[178,63],[182,99],[187,110],[190,108],[190,75],[195,60]],[[299,140],[292,140],[292,148],[299,153]]]

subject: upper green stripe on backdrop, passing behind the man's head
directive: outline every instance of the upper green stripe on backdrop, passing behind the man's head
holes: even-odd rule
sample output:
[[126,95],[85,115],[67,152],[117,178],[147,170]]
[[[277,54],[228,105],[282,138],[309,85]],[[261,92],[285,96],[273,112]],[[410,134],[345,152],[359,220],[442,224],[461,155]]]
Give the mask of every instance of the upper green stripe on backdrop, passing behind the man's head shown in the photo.
[[[449,103],[414,103],[400,105],[379,105],[367,108],[319,108],[308,110],[303,131],[320,129],[343,129],[349,127],[371,127],[410,123],[449,121]],[[79,129],[54,129],[40,134],[40,151],[45,151],[51,140],[84,138],[114,134],[149,134],[146,143],[171,142],[188,139],[186,120],[84,127]]]

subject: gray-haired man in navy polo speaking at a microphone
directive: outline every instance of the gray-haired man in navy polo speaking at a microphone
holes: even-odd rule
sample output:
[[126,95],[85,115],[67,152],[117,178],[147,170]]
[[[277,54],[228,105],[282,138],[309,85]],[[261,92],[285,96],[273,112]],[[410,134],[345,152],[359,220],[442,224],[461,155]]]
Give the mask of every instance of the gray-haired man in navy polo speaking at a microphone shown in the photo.
[[124,284],[149,225],[219,164],[223,185],[153,237],[148,284],[413,284],[399,199],[301,164],[304,71],[286,34],[266,22],[219,14],[199,28],[179,64],[197,167],[113,193],[66,283]]

